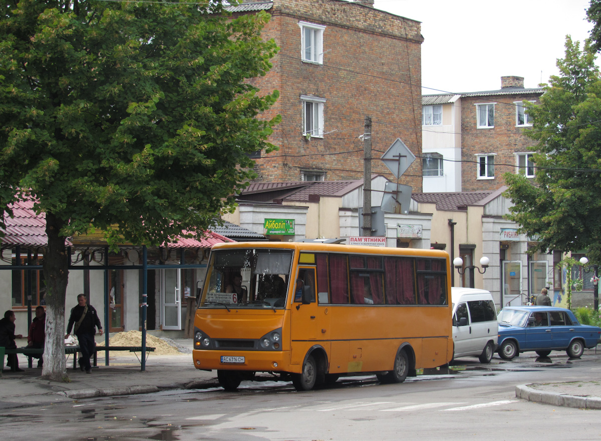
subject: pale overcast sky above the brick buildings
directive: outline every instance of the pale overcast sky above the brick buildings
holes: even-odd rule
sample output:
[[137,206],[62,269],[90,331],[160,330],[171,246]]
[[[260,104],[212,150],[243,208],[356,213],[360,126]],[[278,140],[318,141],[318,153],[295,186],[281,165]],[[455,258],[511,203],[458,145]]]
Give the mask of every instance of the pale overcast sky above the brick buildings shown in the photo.
[[[537,87],[558,75],[566,35],[584,41],[588,0],[375,0],[421,23],[423,94],[501,88],[501,76]],[[599,61],[597,61],[599,64]]]

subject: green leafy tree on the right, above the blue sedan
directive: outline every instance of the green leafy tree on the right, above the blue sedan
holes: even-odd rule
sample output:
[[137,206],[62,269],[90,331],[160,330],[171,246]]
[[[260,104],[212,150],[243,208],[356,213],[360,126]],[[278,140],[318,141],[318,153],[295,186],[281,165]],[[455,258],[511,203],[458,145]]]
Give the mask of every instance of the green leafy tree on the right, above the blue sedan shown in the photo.
[[530,150],[534,182],[523,174],[504,174],[504,193],[514,206],[507,218],[520,232],[535,238],[535,250],[587,249],[601,262],[601,80],[595,52],[566,38],[566,58],[558,59],[540,105],[529,105],[533,117],[526,135],[537,144]]

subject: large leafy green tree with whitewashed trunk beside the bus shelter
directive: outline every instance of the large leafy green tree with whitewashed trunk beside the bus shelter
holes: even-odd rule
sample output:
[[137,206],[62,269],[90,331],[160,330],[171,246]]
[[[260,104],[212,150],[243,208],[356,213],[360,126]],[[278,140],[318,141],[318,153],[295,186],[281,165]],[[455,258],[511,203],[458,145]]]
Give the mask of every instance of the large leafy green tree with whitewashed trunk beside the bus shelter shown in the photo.
[[[254,177],[248,154],[279,117],[255,118],[277,47],[266,13],[221,2],[8,0],[0,17],[0,200],[46,216],[46,355],[66,378],[65,241],[93,228],[160,245],[202,234]],[[10,210],[8,215],[11,215]],[[3,225],[4,218],[0,225]]]

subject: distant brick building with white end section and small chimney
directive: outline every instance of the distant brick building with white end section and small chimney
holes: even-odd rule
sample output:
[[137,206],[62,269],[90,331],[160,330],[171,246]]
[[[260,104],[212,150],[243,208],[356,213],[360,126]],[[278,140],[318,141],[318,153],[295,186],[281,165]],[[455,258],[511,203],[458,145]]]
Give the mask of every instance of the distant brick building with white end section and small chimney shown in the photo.
[[534,177],[523,101],[542,94],[503,76],[499,90],[423,96],[424,192],[496,190],[505,172]]

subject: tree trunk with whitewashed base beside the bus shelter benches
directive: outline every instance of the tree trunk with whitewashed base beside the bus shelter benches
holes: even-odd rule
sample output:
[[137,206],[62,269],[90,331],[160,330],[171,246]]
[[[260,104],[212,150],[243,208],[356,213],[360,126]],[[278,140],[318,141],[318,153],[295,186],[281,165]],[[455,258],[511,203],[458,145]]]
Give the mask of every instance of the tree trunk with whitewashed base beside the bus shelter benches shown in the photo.
[[46,342],[41,376],[58,382],[68,381],[65,361],[65,297],[69,281],[66,237],[59,236],[64,221],[46,213],[48,246],[44,253],[46,280]]

